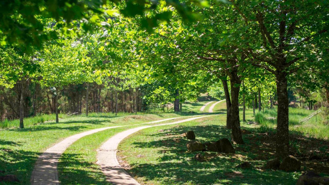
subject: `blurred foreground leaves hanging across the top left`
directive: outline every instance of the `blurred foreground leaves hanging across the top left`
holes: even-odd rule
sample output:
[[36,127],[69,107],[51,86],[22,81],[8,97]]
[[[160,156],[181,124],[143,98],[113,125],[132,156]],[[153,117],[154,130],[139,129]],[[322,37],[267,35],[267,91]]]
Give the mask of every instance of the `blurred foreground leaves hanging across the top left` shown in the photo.
[[[225,2],[224,0],[222,0]],[[147,0],[3,0],[0,3],[0,43],[4,45],[22,44],[40,48],[44,41],[58,38],[55,31],[47,31],[56,25],[63,34],[70,35],[79,28],[89,31],[92,25],[108,26],[106,19],[113,18],[117,13],[127,17],[143,16],[141,26],[152,30],[157,20],[169,20],[171,11],[145,16],[149,10],[156,10],[158,4],[172,6],[183,20],[195,20],[198,15],[187,5],[205,6],[206,1],[147,1]],[[120,10],[120,11],[119,11]]]

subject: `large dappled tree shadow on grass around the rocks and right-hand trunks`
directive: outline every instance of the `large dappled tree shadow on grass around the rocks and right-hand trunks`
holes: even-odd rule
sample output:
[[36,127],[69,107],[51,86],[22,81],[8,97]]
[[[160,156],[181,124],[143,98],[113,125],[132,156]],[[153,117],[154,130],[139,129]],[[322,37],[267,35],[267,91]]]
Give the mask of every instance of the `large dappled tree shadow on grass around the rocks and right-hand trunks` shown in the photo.
[[[193,130],[196,139],[202,142],[216,141],[221,138],[230,139],[230,130],[225,126],[201,125],[201,126],[178,126],[172,127],[164,132],[155,132],[146,137],[156,138],[151,142],[134,142],[134,148],[157,148],[157,163],[130,164],[128,172],[136,177],[143,177],[145,180],[160,181],[160,184],[272,184],[278,182],[286,185],[294,185],[296,180],[294,172],[272,171],[264,169],[266,161],[274,158],[275,153],[275,131],[242,128],[250,131],[250,134],[243,134],[245,145],[234,145],[236,154],[218,154],[215,152],[188,152],[186,148],[187,139],[179,135]],[[305,142],[306,141],[306,142]],[[329,145],[328,141],[306,138],[301,133],[292,133],[291,142],[296,143],[296,148],[301,152],[310,152],[319,148],[316,143],[322,142],[323,146]],[[313,146],[308,145],[312,144]],[[317,149],[318,150],[318,149]],[[329,154],[329,149],[325,151]],[[205,162],[198,162],[193,159],[194,155],[201,153],[205,156]],[[302,170],[313,169],[316,172],[329,173],[329,167],[324,161],[303,160],[291,149],[291,154],[302,160]],[[147,155],[147,154],[145,154]],[[253,168],[235,168],[243,161],[249,161]],[[311,165],[313,164],[314,165]],[[262,170],[259,170],[262,169]],[[169,177],[169,178],[168,178]],[[260,180],[262,179],[262,180]]]

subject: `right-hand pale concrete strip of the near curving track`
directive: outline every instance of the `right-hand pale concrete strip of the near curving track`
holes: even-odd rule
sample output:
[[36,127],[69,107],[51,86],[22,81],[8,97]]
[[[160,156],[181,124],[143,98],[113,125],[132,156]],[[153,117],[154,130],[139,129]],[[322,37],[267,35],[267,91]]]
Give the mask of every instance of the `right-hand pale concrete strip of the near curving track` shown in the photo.
[[[214,116],[214,115],[210,115]],[[127,136],[138,132],[144,128],[149,128],[153,126],[162,126],[169,124],[178,124],[186,121],[191,121],[194,119],[205,118],[209,116],[200,116],[189,119],[184,119],[180,121],[175,121],[172,123],[164,123],[157,125],[147,125],[137,128],[132,128],[123,132],[120,132],[107,140],[97,151],[97,164],[100,165],[102,172],[106,175],[106,181],[111,182],[113,185],[140,185],[132,176],[130,176],[119,164],[116,159],[116,149],[119,143]]]

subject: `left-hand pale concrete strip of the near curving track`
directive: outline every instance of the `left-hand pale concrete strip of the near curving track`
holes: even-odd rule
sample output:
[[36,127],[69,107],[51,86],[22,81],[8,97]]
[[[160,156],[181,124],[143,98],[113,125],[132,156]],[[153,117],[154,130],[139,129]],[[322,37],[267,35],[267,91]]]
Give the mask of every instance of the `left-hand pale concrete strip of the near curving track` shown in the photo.
[[[141,124],[149,124],[149,123],[157,123],[161,121],[167,121],[172,119],[178,119],[178,118],[184,118],[184,117],[176,117],[176,118],[168,118],[168,119],[161,119],[157,121],[152,121],[148,123],[140,123],[135,125],[141,125]],[[72,143],[77,141],[78,139],[99,132],[110,128],[117,128],[117,127],[123,127],[128,125],[122,125],[122,126],[112,126],[112,127],[104,127],[104,128],[97,128],[93,130],[89,130],[86,132],[82,132],[73,136],[70,136],[63,141],[57,143],[56,145],[48,148],[42,155],[38,157],[38,160],[36,162],[36,165],[33,169],[32,176],[31,176],[31,184],[32,185],[59,185],[60,182],[58,180],[58,172],[57,172],[57,164],[58,160],[63,154],[63,152],[66,150],[67,147],[69,147]],[[140,127],[139,127],[140,128]]]

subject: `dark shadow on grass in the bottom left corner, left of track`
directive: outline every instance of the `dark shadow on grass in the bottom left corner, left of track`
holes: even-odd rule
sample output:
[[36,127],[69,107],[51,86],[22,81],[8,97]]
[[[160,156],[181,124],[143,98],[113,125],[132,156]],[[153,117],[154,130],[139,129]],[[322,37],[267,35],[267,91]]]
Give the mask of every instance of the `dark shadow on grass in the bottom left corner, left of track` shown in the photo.
[[0,170],[4,171],[0,175],[13,174],[20,181],[0,182],[0,184],[30,184],[32,170],[40,154],[38,152],[12,150],[0,146]]

